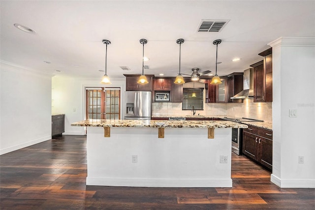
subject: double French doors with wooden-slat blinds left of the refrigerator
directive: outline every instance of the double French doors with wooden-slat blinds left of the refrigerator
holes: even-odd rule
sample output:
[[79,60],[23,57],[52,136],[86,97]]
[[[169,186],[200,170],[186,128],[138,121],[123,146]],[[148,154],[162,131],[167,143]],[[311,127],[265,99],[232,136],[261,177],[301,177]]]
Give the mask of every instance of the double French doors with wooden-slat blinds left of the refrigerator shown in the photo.
[[86,88],[86,119],[120,119],[120,88]]

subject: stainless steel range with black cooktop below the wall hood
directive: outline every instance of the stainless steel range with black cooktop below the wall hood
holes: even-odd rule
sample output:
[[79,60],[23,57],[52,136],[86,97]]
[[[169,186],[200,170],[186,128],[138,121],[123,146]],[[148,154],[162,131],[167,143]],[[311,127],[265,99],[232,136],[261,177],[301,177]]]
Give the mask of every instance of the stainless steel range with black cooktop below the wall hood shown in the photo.
[[[224,117],[223,120],[228,120],[236,123],[242,122],[263,122],[263,120],[256,120],[251,118],[238,118],[238,117]],[[236,155],[242,155],[243,147],[243,129],[232,129],[232,152]]]

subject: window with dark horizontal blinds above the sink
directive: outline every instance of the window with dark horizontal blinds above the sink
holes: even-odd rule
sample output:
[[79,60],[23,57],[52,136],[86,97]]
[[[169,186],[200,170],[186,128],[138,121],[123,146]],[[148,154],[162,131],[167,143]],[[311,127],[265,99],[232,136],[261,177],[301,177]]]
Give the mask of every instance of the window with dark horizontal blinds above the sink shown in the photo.
[[[196,97],[191,97],[192,93]],[[191,110],[192,106],[195,110],[203,110],[204,88],[183,88],[183,110]]]

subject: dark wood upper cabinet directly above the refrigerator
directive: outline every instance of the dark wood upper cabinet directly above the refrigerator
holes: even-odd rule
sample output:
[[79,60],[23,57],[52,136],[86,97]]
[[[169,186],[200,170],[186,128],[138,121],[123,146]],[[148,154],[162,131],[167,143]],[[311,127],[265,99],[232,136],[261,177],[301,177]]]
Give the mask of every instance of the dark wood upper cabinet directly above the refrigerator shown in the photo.
[[152,91],[152,81],[154,75],[146,75],[148,82],[147,84],[139,84],[137,83],[140,75],[125,75],[126,77],[126,91],[137,91],[137,90],[145,90]]

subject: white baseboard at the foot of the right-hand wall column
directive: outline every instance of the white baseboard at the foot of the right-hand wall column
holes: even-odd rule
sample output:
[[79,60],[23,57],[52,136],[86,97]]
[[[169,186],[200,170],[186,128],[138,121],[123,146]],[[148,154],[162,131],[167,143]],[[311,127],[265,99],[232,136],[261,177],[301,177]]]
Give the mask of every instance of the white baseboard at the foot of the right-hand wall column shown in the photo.
[[281,188],[315,188],[315,179],[284,180],[271,174],[270,180]]

